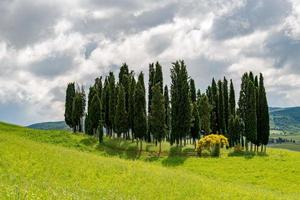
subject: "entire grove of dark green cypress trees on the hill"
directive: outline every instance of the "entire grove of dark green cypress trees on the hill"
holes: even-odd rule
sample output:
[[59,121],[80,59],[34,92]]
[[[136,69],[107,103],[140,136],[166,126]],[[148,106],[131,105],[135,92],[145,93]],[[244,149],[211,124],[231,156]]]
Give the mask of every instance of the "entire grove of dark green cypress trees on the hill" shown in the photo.
[[[119,137],[159,145],[196,143],[201,135],[223,134],[231,147],[241,145],[258,151],[268,144],[269,112],[263,75],[252,72],[242,77],[240,97],[236,106],[234,84],[212,80],[205,92],[196,89],[184,61],[171,67],[170,88],[163,84],[159,62],[149,65],[148,96],[144,74],[129,71],[124,63],[118,80],[110,72],[95,79],[89,88],[87,112],[83,88],[69,83],[66,91],[65,121],[74,132],[83,131],[103,141],[104,128],[108,137]],[[147,98],[147,104],[146,104]],[[254,147],[254,148],[253,148]]]

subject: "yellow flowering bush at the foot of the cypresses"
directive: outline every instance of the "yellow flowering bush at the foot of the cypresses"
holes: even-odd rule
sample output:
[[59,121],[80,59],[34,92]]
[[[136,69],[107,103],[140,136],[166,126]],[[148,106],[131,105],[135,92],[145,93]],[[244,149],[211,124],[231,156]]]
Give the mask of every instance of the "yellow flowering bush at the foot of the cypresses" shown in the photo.
[[224,146],[228,146],[228,139],[224,135],[210,134],[198,140],[196,151],[199,156],[203,150],[208,150],[211,156],[219,156],[220,149]]

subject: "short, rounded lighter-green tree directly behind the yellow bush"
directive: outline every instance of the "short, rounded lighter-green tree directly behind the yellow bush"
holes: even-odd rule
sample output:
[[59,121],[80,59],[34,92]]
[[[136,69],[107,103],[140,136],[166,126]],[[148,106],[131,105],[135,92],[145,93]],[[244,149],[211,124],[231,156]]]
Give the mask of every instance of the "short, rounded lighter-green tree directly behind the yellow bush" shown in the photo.
[[200,98],[198,98],[198,108],[199,108],[199,116],[200,116],[200,124],[201,130],[203,130],[206,134],[210,133],[210,116],[212,106],[209,103],[208,97],[203,94]]

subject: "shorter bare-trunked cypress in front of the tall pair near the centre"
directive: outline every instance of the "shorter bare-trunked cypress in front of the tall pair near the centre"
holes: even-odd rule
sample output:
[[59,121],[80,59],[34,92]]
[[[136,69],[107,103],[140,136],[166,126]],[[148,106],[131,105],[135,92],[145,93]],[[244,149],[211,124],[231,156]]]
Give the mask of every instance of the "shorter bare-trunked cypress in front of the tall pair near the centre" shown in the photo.
[[151,124],[153,136],[159,143],[159,153],[161,153],[161,142],[165,137],[165,104],[164,96],[160,90],[160,84],[157,83],[153,87],[153,97],[151,103],[151,115],[149,116],[149,124]]

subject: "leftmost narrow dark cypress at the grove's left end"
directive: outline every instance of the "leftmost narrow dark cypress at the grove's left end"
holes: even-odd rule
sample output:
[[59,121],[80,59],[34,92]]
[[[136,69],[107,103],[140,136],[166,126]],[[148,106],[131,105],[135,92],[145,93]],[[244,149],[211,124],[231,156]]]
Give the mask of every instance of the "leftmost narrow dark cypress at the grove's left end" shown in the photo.
[[75,96],[75,83],[69,83],[66,91],[65,102],[65,122],[69,127],[73,127],[73,98]]

